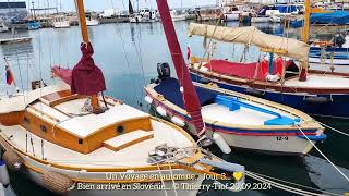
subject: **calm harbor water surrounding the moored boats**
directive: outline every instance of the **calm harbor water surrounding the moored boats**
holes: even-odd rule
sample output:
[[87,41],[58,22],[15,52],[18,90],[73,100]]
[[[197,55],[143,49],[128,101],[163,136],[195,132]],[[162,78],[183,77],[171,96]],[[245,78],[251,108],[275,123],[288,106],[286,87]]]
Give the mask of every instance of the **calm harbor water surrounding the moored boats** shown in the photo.
[[[203,38],[186,36],[188,22],[177,22],[176,29],[184,54],[190,45],[195,56],[204,53]],[[239,26],[238,23],[228,23],[227,26]],[[281,25],[261,24],[260,29],[277,35],[296,37],[296,30],[284,32]],[[91,27],[89,38],[95,49],[95,62],[104,71],[107,95],[123,100],[144,111],[151,108],[143,102],[143,86],[151,78],[157,76],[158,62],[171,63],[170,53],[160,23],[149,24],[107,24]],[[11,37],[11,34],[1,34],[0,38]],[[20,88],[27,88],[33,79],[43,78],[50,83],[50,66],[61,65],[72,68],[80,59],[80,28],[67,29],[46,28],[36,32],[19,32],[14,36],[31,36],[33,40],[27,44],[2,45],[0,56],[5,57],[11,65],[15,81]],[[214,57],[240,60],[244,46],[231,44],[217,44]],[[245,56],[246,61],[256,61],[261,56],[257,48],[251,47]],[[4,78],[4,62],[0,63],[1,78]],[[173,71],[173,69],[172,69]],[[172,72],[172,75],[174,73]],[[0,83],[0,94],[13,91]],[[140,103],[142,103],[140,106]],[[332,119],[317,119],[341,131],[349,128],[349,121]],[[349,133],[347,131],[347,133]],[[321,150],[342,171],[349,175],[349,154],[347,152],[349,138],[327,131],[328,139],[317,144]],[[212,151],[226,160],[244,164],[246,170],[265,175],[279,177],[293,183],[321,188],[328,192],[344,194],[349,192],[349,183],[329,167],[316,151],[311,156],[286,157],[254,154],[253,151],[237,151],[222,155],[216,147]],[[248,181],[250,181],[248,179]],[[11,173],[11,188],[7,189],[9,196],[49,196],[53,195],[38,185],[27,181],[20,173]],[[228,191],[209,191],[202,195],[291,195],[277,188],[261,192],[231,193]]]

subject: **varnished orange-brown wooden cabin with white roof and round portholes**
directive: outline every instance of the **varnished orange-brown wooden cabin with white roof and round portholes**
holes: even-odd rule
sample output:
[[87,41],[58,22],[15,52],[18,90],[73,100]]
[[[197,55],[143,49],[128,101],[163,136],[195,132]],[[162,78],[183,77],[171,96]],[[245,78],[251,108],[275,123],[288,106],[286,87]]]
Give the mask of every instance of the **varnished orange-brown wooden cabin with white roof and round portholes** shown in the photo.
[[[39,94],[39,89],[34,91]],[[87,97],[71,95],[70,90],[48,93],[32,101],[25,110],[0,114],[0,123],[21,125],[45,140],[82,154],[89,154],[100,147],[119,150],[130,145],[130,142],[153,137],[153,134],[147,133],[153,130],[147,113],[105,97],[105,102],[101,98],[99,101],[109,109],[94,114],[82,110],[86,101]],[[117,136],[134,131],[134,139],[128,136],[129,140],[123,142],[119,137],[115,140]]]

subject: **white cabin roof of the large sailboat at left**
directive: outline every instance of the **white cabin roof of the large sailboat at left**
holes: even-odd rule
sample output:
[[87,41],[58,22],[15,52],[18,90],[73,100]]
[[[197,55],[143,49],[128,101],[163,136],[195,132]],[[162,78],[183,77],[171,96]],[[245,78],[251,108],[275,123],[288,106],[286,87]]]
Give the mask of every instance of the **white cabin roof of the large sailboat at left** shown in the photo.
[[[56,126],[71,134],[85,138],[107,126],[121,123],[130,119],[149,118],[149,114],[136,110],[128,105],[115,105],[100,114],[82,112],[87,98],[79,98],[56,106],[48,106],[38,101],[28,108],[28,111],[46,121],[53,121]],[[103,106],[103,103],[100,103]],[[56,121],[56,122],[55,122]]]

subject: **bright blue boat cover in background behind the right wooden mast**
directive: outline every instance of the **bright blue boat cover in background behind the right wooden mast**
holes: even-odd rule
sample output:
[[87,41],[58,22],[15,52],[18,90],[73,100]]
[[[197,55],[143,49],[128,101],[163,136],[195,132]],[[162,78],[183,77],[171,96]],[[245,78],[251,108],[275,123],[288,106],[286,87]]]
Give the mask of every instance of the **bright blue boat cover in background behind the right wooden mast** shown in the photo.
[[[330,13],[314,13],[310,16],[310,23],[317,23],[317,24],[336,24],[336,25],[345,25],[349,24],[349,12],[346,11],[334,11]],[[291,27],[302,27],[302,21],[294,21],[291,22]]]

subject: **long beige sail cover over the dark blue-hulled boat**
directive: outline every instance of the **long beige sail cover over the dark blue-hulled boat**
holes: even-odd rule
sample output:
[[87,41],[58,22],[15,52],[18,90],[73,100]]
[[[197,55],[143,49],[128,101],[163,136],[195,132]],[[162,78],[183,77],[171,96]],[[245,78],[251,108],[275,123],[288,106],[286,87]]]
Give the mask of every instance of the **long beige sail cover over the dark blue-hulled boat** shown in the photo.
[[221,27],[206,24],[191,23],[189,36],[197,35],[226,42],[241,42],[255,45],[260,48],[282,50],[286,57],[308,61],[310,46],[292,38],[274,36],[258,30],[255,26],[248,27]]

